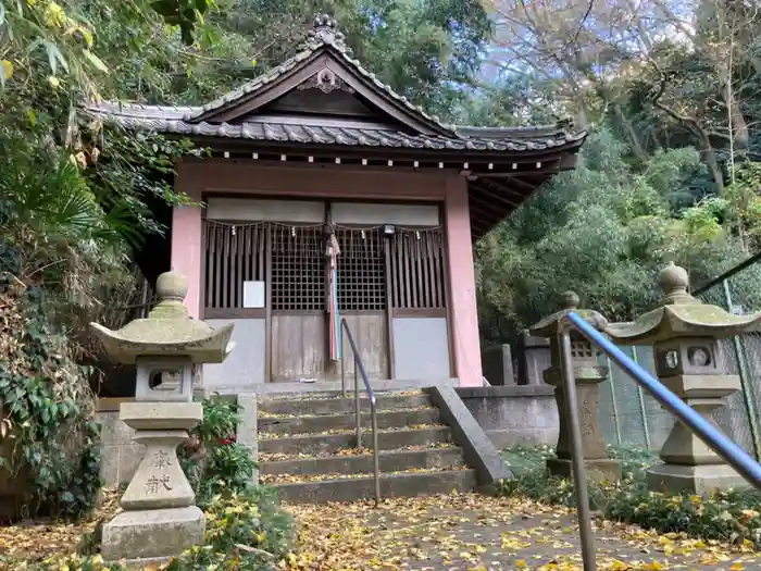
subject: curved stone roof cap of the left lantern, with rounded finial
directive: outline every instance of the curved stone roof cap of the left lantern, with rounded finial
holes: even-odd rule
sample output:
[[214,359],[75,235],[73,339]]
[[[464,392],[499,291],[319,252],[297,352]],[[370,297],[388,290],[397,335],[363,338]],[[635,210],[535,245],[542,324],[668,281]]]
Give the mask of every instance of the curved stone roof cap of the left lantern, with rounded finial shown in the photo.
[[213,328],[188,314],[183,303],[187,278],[166,272],[155,282],[159,302],[145,319],[112,331],[90,323],[107,353],[115,361],[134,363],[139,357],[187,357],[195,363],[221,363],[233,350],[234,324]]

